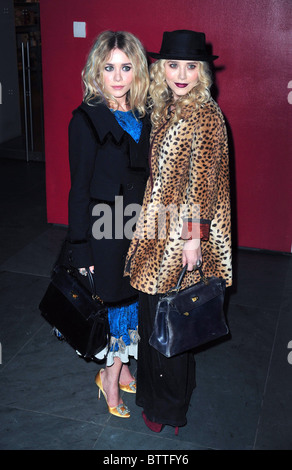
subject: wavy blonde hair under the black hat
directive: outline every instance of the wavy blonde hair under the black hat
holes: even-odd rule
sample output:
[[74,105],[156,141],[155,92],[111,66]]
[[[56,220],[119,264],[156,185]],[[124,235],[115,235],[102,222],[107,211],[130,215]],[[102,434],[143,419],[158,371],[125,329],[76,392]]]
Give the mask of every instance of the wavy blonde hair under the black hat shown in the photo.
[[158,125],[167,117],[168,108],[174,105],[175,112],[171,118],[172,122],[178,122],[181,118],[183,108],[194,103],[195,108],[203,106],[210,99],[210,87],[212,85],[211,72],[208,62],[196,61],[198,64],[198,81],[191,91],[175,102],[171,89],[165,79],[165,59],[157,60],[150,66],[150,88],[149,107],[151,109],[151,121]]

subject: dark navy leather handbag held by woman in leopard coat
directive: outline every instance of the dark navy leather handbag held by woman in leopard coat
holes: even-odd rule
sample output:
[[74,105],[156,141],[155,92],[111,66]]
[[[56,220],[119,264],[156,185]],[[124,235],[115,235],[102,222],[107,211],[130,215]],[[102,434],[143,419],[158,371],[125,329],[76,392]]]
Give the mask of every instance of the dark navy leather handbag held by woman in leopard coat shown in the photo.
[[187,266],[180,273],[175,288],[157,304],[154,328],[149,343],[161,354],[172,357],[197,348],[229,333],[223,312],[225,281],[205,278],[180,290]]

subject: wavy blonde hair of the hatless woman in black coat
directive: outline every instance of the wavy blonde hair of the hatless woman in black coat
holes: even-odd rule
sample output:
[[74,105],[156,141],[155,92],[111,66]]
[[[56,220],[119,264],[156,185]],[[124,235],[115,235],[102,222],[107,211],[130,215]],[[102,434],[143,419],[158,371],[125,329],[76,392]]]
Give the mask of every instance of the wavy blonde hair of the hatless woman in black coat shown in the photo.
[[143,117],[146,113],[146,101],[149,88],[148,63],[144,47],[136,36],[126,31],[102,32],[90,50],[82,70],[83,100],[94,105],[95,102],[116,102],[104,87],[104,66],[114,49],[120,49],[129,58],[133,66],[133,82],[127,94],[127,104],[130,109],[138,111]]

